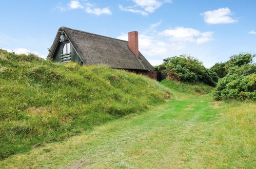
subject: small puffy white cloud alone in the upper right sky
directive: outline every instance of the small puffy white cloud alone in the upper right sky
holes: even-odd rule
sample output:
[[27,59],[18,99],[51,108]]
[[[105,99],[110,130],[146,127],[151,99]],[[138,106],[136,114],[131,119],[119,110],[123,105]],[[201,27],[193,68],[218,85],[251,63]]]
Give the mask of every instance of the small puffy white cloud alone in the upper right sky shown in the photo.
[[208,24],[230,24],[238,22],[238,20],[230,17],[232,12],[229,8],[219,8],[213,11],[201,13],[204,16],[204,21]]

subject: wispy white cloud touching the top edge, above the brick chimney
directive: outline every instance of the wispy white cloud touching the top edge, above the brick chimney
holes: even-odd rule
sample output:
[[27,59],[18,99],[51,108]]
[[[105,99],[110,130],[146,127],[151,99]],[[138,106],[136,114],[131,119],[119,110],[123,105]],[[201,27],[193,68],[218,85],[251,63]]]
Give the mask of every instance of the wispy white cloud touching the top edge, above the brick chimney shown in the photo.
[[157,8],[160,8],[164,3],[171,3],[171,0],[132,0],[134,6],[123,7],[119,6],[122,11],[139,13],[143,16],[154,12]]

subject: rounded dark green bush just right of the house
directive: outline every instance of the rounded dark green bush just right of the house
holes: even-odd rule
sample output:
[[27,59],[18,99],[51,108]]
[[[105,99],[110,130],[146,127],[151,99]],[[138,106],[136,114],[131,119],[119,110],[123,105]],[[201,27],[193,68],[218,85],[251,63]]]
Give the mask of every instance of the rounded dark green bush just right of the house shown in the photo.
[[165,72],[169,80],[203,82],[212,87],[218,82],[216,73],[206,69],[201,61],[189,55],[166,58],[162,65],[155,68]]

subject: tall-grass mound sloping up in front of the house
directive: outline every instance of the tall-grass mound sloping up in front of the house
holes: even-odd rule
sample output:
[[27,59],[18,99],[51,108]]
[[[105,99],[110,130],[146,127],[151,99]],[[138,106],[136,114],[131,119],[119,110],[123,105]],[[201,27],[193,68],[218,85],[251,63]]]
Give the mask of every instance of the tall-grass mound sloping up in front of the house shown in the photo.
[[166,92],[142,75],[0,50],[0,160],[145,111]]

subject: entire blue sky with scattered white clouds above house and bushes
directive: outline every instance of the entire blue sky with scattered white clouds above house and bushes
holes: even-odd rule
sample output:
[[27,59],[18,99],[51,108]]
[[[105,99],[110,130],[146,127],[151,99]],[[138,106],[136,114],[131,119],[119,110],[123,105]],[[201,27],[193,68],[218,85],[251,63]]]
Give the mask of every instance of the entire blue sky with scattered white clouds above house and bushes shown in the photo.
[[0,5],[0,48],[46,57],[58,28],[127,39],[152,65],[190,54],[206,67],[256,52],[255,0],[9,0]]

